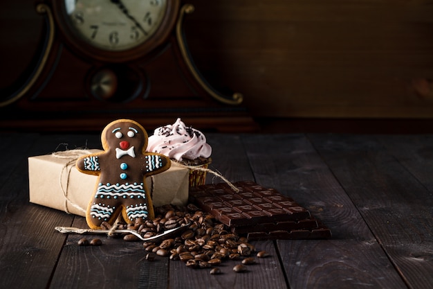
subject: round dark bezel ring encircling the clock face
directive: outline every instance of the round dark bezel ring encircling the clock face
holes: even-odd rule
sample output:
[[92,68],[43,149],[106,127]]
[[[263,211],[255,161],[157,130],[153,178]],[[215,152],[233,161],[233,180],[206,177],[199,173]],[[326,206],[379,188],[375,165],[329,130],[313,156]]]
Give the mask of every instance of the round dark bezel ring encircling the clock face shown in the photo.
[[93,46],[77,35],[75,28],[67,20],[64,1],[52,1],[55,21],[62,32],[64,42],[81,56],[100,62],[120,63],[150,57],[152,51],[162,45],[172,33],[181,0],[167,0],[167,8],[156,31],[145,42],[131,49],[111,51]]

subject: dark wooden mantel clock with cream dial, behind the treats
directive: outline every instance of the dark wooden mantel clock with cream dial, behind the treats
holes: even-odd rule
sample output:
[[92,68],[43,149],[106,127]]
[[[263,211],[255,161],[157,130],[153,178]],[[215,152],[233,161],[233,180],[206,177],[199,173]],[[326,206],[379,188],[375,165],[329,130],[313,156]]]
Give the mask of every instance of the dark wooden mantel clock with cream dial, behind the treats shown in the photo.
[[194,65],[183,29],[194,6],[46,0],[36,10],[46,19],[37,65],[24,85],[0,99],[0,111],[18,112],[16,125],[98,130],[128,117],[155,128],[182,117],[198,128],[255,128],[243,96],[221,94]]

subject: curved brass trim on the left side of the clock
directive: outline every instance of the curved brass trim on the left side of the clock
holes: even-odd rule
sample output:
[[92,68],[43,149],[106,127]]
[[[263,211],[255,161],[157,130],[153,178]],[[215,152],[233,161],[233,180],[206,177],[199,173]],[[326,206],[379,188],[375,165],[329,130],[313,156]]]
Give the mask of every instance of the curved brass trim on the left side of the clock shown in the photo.
[[11,96],[7,100],[0,102],[0,107],[4,107],[6,105],[9,105],[10,103],[15,102],[15,100],[18,100],[19,98],[23,97],[24,94],[26,94],[26,92],[31,87],[33,87],[37,78],[39,78],[39,76],[41,75],[42,70],[45,67],[46,61],[48,60],[48,56],[50,55],[50,51],[53,46],[54,35],[55,35],[53,12],[51,12],[51,9],[46,4],[43,3],[40,3],[36,6],[36,12],[38,12],[39,14],[46,15],[48,21],[48,33],[46,37],[46,45],[44,47],[44,53],[42,54],[42,58],[39,61],[39,64],[37,65],[35,72],[25,82],[26,85],[21,87],[20,90],[15,91],[15,93],[11,94]]

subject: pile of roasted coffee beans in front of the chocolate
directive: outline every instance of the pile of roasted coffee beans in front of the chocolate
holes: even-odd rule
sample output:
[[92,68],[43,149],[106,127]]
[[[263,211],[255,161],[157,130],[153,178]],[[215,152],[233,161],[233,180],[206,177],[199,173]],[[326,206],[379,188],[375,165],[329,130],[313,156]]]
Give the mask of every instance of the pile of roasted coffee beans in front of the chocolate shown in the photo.
[[[167,256],[171,260],[179,260],[189,268],[212,268],[211,274],[221,271],[213,268],[224,260],[239,260],[234,272],[245,272],[246,265],[256,263],[253,254],[254,245],[247,238],[233,234],[230,229],[214,219],[210,213],[201,211],[194,204],[186,207],[166,205],[155,208],[154,220],[136,220],[135,224],[119,225],[119,229],[133,229],[145,238],[162,234],[165,230],[187,225],[187,229],[174,238],[166,238],[158,243],[145,242],[143,247],[148,252],[146,259],[152,261],[155,255]],[[108,224],[102,224],[111,229]],[[124,240],[140,240],[127,234]],[[265,251],[258,252],[258,258],[268,256]]]

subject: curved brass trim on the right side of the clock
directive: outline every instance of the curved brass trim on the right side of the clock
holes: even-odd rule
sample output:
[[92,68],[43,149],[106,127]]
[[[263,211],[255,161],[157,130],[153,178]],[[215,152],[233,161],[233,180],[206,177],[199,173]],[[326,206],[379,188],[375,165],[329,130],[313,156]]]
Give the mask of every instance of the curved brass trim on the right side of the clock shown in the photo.
[[190,70],[192,76],[194,76],[194,79],[210,96],[212,96],[214,99],[218,100],[219,102],[228,105],[241,104],[243,101],[243,94],[239,92],[235,92],[234,94],[232,94],[232,96],[225,96],[223,94],[220,94],[208,84],[208,82],[203,78],[199,70],[192,62],[191,55],[188,52],[187,44],[185,42],[185,36],[183,33],[183,26],[182,26],[183,18],[185,14],[191,14],[192,12],[194,12],[194,6],[192,4],[183,5],[176,24],[176,38],[178,41],[179,49],[181,50],[181,55],[183,60],[187,64],[187,67]]

